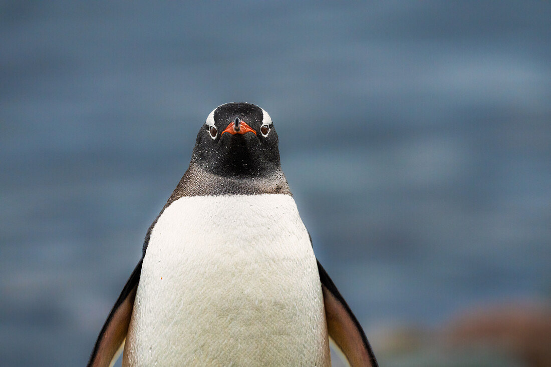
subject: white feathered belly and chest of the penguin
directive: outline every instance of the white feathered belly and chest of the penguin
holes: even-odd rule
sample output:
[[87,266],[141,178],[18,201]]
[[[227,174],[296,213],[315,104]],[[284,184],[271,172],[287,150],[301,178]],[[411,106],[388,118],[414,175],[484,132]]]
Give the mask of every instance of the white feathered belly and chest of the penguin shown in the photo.
[[182,197],[150,236],[123,366],[331,364],[293,197]]

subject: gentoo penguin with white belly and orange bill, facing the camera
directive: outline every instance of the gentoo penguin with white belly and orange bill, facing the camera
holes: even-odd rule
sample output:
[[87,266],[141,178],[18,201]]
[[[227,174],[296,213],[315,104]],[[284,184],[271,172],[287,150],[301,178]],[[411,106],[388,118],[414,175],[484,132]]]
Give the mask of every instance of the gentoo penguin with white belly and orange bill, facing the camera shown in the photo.
[[210,112],[191,163],[145,236],[143,256],[89,366],[377,366],[358,320],[316,260],[260,107]]

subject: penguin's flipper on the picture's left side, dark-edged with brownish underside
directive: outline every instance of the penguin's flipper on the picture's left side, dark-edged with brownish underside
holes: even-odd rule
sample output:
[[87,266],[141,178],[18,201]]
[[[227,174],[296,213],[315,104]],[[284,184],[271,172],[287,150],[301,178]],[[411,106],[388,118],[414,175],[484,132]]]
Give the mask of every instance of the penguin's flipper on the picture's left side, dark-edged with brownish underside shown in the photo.
[[122,352],[122,346],[128,332],[130,317],[136,298],[139,276],[142,272],[142,260],[138,262],[130,278],[122,289],[115,305],[109,312],[104,326],[101,328],[98,340],[90,355],[88,367],[107,367],[115,364],[118,355]]

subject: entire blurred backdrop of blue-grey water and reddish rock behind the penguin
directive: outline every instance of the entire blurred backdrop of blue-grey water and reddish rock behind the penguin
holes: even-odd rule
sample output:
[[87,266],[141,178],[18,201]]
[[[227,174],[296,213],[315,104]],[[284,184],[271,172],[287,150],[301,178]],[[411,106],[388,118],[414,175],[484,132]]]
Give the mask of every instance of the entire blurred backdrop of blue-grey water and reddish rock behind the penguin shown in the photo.
[[206,116],[248,101],[381,365],[545,365],[550,19],[549,2],[0,2],[0,363],[85,364]]

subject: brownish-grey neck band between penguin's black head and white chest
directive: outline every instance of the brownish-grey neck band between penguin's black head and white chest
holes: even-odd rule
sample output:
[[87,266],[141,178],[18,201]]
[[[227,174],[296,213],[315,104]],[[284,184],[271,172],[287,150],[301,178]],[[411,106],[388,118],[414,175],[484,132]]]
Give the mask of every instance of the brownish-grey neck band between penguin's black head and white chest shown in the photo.
[[259,176],[220,176],[192,162],[167,204],[185,196],[261,195],[264,193],[291,195],[281,167]]

